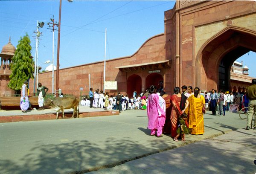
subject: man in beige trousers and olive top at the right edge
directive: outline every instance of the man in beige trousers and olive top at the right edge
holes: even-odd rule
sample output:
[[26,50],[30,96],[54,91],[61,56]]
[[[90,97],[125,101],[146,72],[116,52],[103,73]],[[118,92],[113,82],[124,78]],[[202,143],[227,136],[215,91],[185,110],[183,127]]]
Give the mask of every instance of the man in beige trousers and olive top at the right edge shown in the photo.
[[253,118],[253,113],[254,113],[254,128],[256,129],[256,124],[255,124],[255,119],[256,119],[256,78],[253,78],[251,86],[246,88],[245,94],[249,98],[249,110],[248,110],[248,115],[247,115],[247,125],[246,125],[246,130],[250,129],[250,123]]

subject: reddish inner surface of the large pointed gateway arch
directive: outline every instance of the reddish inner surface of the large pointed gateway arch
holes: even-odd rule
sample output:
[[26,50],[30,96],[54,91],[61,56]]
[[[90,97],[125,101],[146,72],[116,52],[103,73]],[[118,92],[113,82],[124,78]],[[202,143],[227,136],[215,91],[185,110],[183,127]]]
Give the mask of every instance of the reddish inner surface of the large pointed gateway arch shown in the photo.
[[197,86],[201,89],[232,90],[230,69],[234,61],[249,51],[256,51],[256,32],[228,26],[209,39],[197,55]]

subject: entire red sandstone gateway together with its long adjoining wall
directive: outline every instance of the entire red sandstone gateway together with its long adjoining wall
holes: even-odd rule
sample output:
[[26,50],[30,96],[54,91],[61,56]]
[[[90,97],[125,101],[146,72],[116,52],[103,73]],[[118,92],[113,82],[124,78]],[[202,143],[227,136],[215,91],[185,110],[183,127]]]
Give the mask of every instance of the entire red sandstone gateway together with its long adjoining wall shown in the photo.
[[[201,90],[247,87],[252,77],[233,72],[233,62],[249,51],[256,52],[255,1],[176,1],[164,13],[164,33],[152,36],[131,56],[106,61],[105,81],[117,81],[118,92],[132,96],[150,85],[172,93],[183,85]],[[1,54],[2,63],[5,55]],[[81,55],[81,58],[82,55]],[[104,61],[59,70],[64,93],[89,93],[90,85],[103,89]],[[1,65],[1,90],[9,74]],[[52,85],[52,72],[38,74],[38,80]],[[33,91],[30,81],[30,91]],[[56,87],[54,87],[56,89]],[[116,96],[116,90],[107,90]],[[12,91],[14,93],[14,91]]]

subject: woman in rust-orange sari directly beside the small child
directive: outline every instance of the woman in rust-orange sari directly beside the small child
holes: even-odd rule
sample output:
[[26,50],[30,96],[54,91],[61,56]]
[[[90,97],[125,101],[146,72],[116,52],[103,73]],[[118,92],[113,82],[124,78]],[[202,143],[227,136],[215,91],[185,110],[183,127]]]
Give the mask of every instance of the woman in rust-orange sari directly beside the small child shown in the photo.
[[186,110],[189,105],[187,98],[184,94],[180,94],[180,88],[174,88],[174,94],[171,96],[171,122],[172,122],[172,129],[171,129],[171,136],[175,137],[177,135],[176,131],[178,128],[178,118],[181,114]]

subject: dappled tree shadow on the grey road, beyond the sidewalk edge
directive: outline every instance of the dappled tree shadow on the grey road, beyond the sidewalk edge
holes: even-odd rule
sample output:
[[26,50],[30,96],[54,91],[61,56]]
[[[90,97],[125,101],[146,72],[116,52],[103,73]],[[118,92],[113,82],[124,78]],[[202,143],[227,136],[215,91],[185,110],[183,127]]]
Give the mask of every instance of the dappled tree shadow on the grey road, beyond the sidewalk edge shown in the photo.
[[[88,140],[41,145],[37,142],[31,153],[19,159],[23,165],[11,160],[0,159],[0,171],[4,174],[58,174],[88,172],[100,168],[113,167],[127,161],[145,157],[167,146],[163,140],[155,140],[151,147],[129,137],[116,139],[109,137],[103,145]],[[100,148],[101,147],[101,148]],[[79,173],[79,172],[77,172]]]

